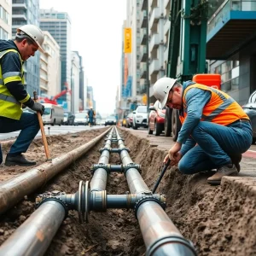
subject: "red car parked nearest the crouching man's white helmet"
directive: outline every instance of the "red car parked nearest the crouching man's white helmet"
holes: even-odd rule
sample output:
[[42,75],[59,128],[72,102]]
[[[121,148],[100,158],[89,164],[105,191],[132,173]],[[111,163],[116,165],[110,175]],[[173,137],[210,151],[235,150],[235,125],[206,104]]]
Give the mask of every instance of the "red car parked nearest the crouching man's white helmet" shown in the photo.
[[155,131],[155,136],[160,136],[160,133],[165,130],[166,109],[162,109],[161,103],[156,101],[154,106],[149,107],[149,110],[148,134],[153,134]]

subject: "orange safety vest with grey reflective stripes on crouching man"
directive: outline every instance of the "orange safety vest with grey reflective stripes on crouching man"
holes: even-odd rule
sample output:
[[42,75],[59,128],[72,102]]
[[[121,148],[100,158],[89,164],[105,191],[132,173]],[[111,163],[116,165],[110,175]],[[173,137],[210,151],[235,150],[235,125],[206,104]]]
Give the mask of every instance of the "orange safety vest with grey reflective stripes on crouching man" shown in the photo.
[[212,93],[210,101],[203,108],[201,121],[212,122],[219,125],[230,125],[238,119],[249,119],[241,106],[228,94],[207,85],[191,84],[183,92],[183,116],[179,116],[182,124],[187,117],[187,103],[185,96],[188,90],[192,88],[209,90]]

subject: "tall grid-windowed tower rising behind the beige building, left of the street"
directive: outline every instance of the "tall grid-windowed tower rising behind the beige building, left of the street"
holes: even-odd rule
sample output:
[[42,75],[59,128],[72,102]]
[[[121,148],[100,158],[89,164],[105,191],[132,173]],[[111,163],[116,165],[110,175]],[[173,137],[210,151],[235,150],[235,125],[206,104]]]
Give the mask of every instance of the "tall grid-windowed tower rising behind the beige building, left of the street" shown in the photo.
[[[40,9],[40,27],[49,31],[61,48],[61,90],[71,86],[71,20],[67,13],[54,9]],[[67,101],[67,95],[60,100]],[[67,106],[68,109],[71,106]]]

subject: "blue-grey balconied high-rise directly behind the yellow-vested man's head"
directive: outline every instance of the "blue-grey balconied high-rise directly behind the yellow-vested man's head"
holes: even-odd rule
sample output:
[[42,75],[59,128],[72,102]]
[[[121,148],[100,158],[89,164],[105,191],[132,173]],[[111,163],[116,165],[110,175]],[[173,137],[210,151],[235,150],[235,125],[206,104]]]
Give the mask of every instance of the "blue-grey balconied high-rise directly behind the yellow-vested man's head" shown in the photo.
[[[17,28],[26,24],[39,26],[39,0],[13,0],[12,5],[12,37],[15,38]],[[26,90],[32,96],[33,91],[39,93],[39,61],[37,51],[24,65]]]

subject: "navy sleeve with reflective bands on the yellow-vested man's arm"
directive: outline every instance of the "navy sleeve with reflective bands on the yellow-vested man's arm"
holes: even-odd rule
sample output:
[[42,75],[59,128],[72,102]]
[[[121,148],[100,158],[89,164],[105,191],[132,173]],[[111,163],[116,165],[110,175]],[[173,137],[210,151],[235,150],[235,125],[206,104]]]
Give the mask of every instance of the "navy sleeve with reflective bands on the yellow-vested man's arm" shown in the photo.
[[15,52],[9,52],[2,59],[3,83],[15,99],[27,107],[34,105],[32,98],[27,94],[21,82],[21,63],[20,57]]

